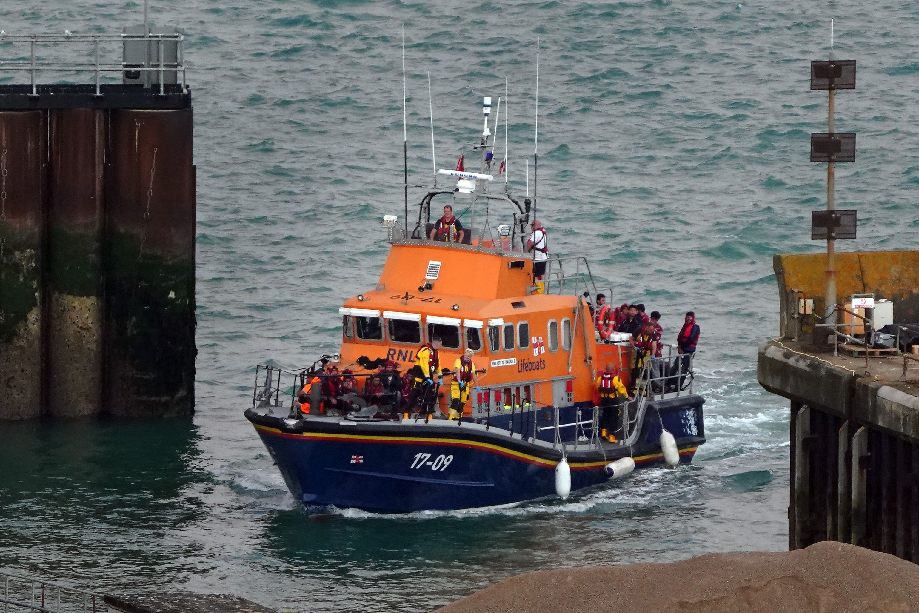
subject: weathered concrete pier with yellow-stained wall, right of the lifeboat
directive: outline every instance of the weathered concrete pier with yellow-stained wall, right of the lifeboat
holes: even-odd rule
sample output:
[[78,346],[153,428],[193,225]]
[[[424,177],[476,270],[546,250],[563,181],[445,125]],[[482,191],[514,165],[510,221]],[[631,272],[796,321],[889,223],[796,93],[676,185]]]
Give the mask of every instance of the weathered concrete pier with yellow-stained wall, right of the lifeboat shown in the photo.
[[[826,255],[774,266],[780,336],[759,347],[757,377],[790,401],[789,548],[838,540],[919,562],[919,363],[865,347],[834,356],[813,314]],[[836,254],[836,267],[840,297],[874,294],[896,324],[919,323],[919,252]]]

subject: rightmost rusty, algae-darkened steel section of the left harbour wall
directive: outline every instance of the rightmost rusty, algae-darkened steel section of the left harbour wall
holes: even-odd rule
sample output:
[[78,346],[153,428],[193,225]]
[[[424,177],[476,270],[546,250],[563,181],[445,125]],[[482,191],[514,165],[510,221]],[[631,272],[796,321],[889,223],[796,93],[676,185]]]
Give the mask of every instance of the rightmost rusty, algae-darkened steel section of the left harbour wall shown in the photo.
[[192,111],[111,111],[106,359],[111,414],[190,414],[195,360]]

